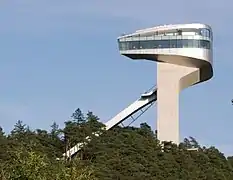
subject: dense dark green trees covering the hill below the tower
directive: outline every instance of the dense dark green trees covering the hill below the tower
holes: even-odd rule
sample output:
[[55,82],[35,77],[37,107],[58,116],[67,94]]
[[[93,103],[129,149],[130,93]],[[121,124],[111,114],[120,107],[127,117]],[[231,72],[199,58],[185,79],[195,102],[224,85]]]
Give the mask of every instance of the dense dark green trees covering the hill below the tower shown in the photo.
[[[93,135],[96,132],[101,135]],[[0,127],[0,179],[233,179],[233,157],[226,158],[215,147],[202,147],[193,137],[185,138],[179,146],[171,142],[162,145],[156,133],[146,123],[139,128],[105,131],[97,116],[90,111],[84,115],[80,109],[63,129],[53,122],[50,131],[33,131],[18,121],[8,135]],[[61,160],[65,150],[80,142],[87,145],[72,159]]]

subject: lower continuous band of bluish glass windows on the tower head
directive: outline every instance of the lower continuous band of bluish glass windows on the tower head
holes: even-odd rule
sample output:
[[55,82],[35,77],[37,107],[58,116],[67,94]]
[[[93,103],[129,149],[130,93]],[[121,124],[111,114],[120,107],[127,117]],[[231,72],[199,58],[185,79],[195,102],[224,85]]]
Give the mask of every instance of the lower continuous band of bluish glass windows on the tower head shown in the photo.
[[143,40],[143,41],[118,41],[120,50],[137,49],[163,49],[163,48],[203,48],[210,49],[208,40],[197,39],[167,39],[167,40]]

